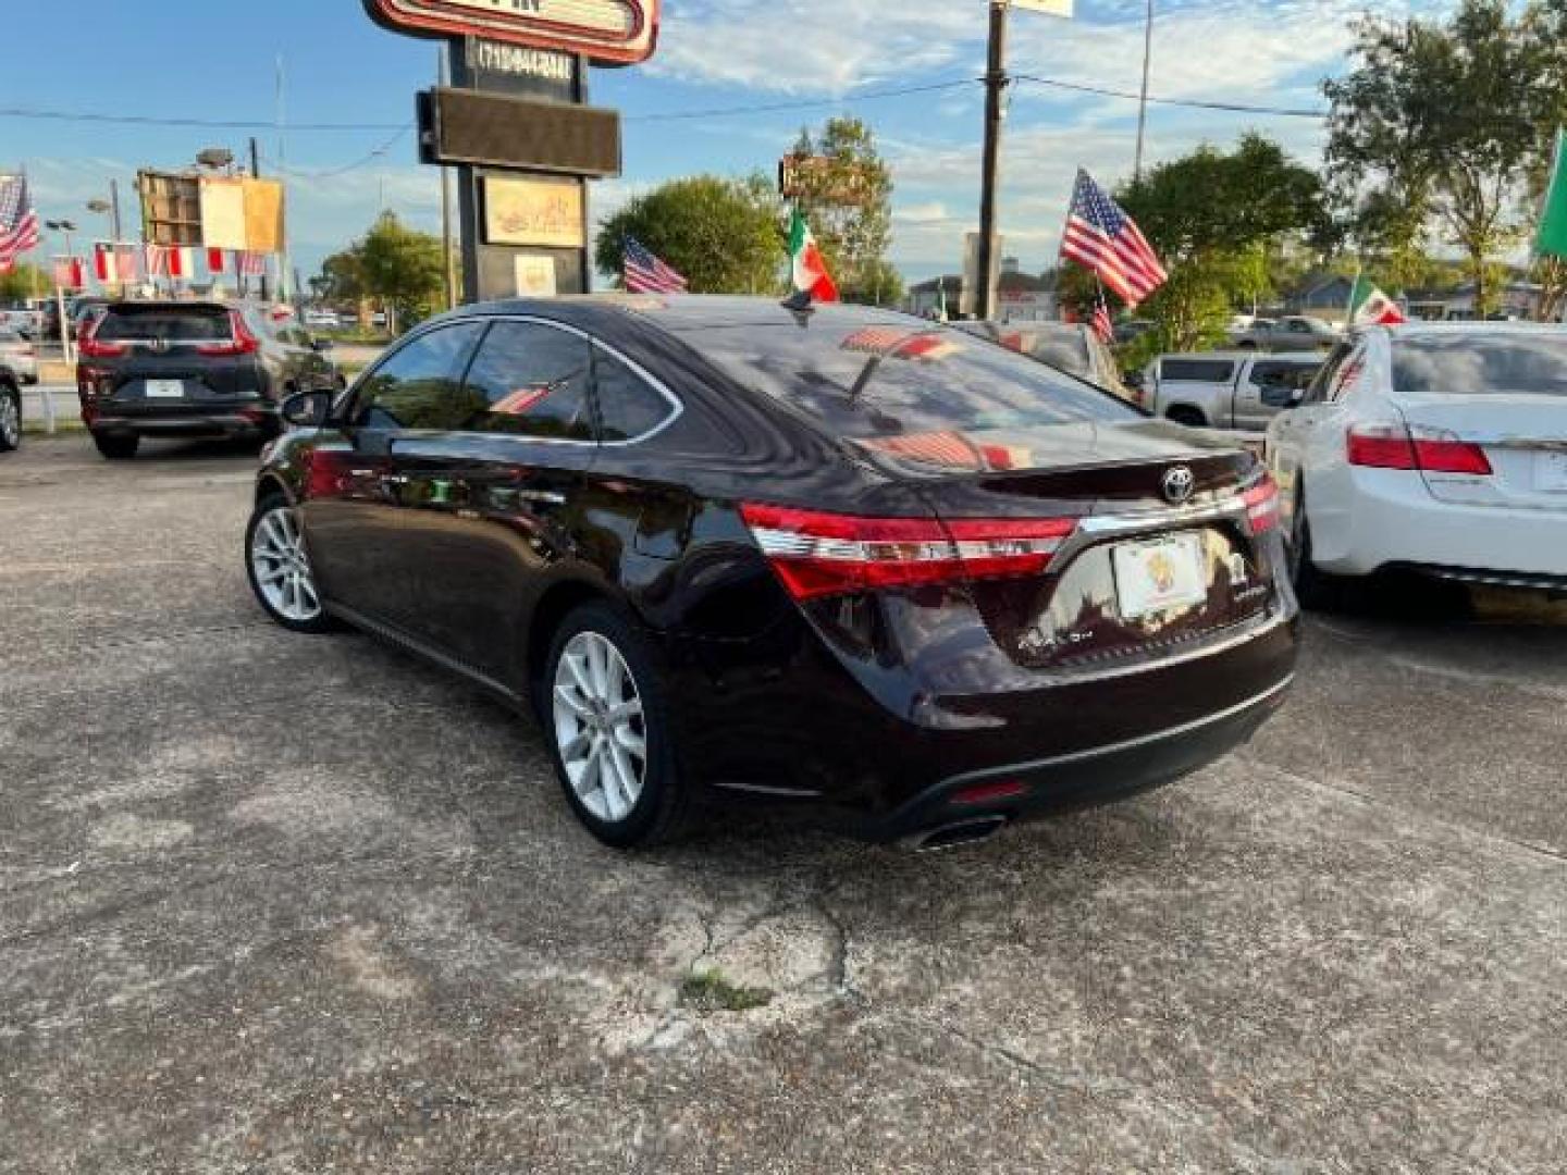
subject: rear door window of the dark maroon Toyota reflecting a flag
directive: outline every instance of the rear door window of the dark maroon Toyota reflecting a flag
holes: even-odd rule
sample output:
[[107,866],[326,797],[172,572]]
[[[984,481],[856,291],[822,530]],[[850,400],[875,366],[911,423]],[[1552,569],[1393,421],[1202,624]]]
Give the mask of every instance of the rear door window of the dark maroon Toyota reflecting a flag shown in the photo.
[[495,323],[469,370],[467,432],[592,440],[586,338],[539,323]]

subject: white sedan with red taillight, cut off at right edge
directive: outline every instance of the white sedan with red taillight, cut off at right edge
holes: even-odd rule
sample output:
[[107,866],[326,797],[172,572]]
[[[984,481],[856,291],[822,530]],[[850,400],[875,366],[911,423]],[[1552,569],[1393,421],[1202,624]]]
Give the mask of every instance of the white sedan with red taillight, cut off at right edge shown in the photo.
[[1268,428],[1296,589],[1409,569],[1567,588],[1567,329],[1357,331]]

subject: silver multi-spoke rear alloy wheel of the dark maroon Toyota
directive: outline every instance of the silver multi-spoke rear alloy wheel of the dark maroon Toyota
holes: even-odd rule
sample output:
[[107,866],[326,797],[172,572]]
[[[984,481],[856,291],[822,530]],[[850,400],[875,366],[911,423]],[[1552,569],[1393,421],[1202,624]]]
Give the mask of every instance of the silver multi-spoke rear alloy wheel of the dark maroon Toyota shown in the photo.
[[555,669],[555,746],[572,791],[595,818],[616,824],[642,796],[647,724],[632,667],[614,644],[577,633]]

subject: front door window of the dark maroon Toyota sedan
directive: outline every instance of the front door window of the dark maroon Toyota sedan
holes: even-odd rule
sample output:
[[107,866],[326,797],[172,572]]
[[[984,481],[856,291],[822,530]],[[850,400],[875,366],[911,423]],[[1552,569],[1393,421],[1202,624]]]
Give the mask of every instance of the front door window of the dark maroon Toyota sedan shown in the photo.
[[483,329],[443,326],[395,351],[360,384],[354,420],[364,428],[459,428],[473,409],[462,395],[462,368]]

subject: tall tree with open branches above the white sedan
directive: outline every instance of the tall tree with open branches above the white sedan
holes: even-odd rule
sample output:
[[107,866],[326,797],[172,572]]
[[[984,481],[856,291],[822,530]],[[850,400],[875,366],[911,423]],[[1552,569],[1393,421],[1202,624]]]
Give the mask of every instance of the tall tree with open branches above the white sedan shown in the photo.
[[1357,241],[1404,260],[1440,233],[1464,252],[1478,313],[1495,302],[1490,258],[1522,238],[1543,128],[1562,110],[1550,11],[1514,19],[1503,0],[1464,0],[1446,22],[1368,17],[1355,67],[1324,85],[1329,175],[1351,193]]

